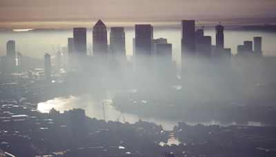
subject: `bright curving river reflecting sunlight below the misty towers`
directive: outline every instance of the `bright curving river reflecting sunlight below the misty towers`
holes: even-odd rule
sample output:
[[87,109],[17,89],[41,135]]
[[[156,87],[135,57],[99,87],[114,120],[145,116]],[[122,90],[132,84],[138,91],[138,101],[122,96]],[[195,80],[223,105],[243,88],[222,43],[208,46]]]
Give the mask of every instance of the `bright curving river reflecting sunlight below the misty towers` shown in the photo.
[[[103,105],[102,105],[103,103]],[[68,97],[59,97],[53,98],[46,102],[41,102],[38,104],[37,109],[40,112],[47,113],[50,109],[55,108],[59,112],[63,112],[72,108],[81,108],[86,110],[86,115],[90,117],[95,117],[97,119],[103,119],[103,107],[105,109],[106,121],[120,121],[124,122],[121,117],[121,112],[115,109],[112,105],[110,105],[112,101],[110,99],[97,99],[93,97],[91,94],[85,94],[83,96],[68,96]],[[124,111],[123,111],[124,112]],[[124,117],[128,123],[135,123],[141,119],[142,121],[149,121],[156,123],[158,125],[162,125],[162,127],[166,130],[172,130],[172,128],[177,125],[179,121],[183,120],[175,120],[168,121],[161,118],[145,118],[140,117],[135,114],[124,113]],[[197,125],[201,123],[203,125],[252,125],[252,126],[262,126],[262,123],[249,121],[245,123],[237,123],[237,122],[228,122],[221,123],[220,121],[186,121],[188,125]],[[172,139],[173,140],[173,139]]]

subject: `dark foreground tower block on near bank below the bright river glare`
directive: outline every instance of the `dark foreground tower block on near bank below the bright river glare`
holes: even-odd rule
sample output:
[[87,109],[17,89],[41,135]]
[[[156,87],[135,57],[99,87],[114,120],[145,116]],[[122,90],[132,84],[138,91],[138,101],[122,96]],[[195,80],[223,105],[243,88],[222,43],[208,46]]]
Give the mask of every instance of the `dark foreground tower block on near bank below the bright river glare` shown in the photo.
[[85,136],[86,133],[86,113],[83,109],[69,110],[69,127],[72,137]]

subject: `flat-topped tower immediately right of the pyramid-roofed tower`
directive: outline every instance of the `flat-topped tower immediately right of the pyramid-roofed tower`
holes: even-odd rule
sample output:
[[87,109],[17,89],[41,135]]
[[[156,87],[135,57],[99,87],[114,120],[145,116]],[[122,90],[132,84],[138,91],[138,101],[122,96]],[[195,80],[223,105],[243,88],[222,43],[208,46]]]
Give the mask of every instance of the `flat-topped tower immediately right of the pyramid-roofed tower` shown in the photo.
[[112,59],[126,60],[126,41],[124,28],[111,28],[110,52]]

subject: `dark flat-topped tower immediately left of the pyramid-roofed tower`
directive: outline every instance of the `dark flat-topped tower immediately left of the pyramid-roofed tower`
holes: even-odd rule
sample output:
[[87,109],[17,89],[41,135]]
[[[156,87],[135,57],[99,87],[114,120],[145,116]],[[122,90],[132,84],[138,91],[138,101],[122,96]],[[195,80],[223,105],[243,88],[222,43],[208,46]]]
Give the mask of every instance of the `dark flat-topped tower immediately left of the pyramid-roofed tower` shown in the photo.
[[[72,39],[68,39],[68,45],[72,44]],[[77,57],[86,56],[86,28],[74,28],[73,29],[73,47],[74,53]],[[72,47],[71,47],[72,48]],[[71,51],[70,51],[71,53]]]

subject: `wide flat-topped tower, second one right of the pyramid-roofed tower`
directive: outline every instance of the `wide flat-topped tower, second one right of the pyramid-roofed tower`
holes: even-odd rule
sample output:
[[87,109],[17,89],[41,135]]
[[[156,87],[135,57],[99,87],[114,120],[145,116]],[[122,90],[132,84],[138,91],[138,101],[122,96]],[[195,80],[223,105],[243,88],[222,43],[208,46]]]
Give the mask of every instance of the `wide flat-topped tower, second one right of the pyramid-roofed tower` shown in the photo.
[[151,25],[135,25],[135,67],[149,70],[152,68],[152,38]]

